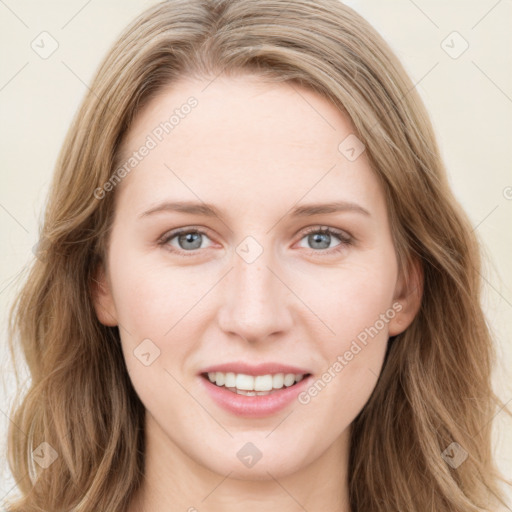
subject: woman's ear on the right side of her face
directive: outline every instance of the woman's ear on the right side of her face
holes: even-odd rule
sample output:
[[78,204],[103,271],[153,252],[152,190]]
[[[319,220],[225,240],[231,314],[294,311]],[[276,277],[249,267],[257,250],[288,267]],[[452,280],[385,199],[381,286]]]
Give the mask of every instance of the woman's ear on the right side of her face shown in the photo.
[[420,261],[415,258],[398,278],[393,298],[393,309],[396,315],[388,324],[389,336],[402,333],[414,320],[421,306],[423,279],[423,268]]

